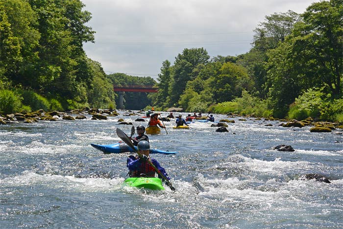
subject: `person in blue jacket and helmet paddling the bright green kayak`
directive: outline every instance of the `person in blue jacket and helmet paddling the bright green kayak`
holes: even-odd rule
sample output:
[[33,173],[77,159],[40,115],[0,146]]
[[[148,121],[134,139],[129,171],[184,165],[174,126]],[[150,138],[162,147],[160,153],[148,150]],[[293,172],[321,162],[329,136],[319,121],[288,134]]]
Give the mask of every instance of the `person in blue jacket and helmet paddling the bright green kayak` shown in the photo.
[[[147,160],[150,160],[152,164],[168,179],[171,178],[168,177],[168,174],[166,173],[166,170],[160,166],[160,163],[158,163],[157,160],[150,158],[150,145],[147,141],[140,141],[137,145],[137,149],[139,150],[139,153],[142,154],[142,157],[130,155],[128,156],[126,160],[126,167],[129,169],[128,175],[130,177],[148,177],[153,178],[155,177],[156,171],[155,169],[150,165],[150,163]],[[160,175],[158,175],[158,178],[162,178]]]

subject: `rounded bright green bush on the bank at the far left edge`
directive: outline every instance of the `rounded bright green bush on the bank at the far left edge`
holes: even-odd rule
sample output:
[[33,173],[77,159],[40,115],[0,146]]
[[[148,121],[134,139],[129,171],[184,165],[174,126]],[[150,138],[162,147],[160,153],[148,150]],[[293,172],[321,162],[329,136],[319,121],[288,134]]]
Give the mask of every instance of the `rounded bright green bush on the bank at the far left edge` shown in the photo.
[[0,113],[11,114],[22,107],[22,98],[13,91],[0,90]]

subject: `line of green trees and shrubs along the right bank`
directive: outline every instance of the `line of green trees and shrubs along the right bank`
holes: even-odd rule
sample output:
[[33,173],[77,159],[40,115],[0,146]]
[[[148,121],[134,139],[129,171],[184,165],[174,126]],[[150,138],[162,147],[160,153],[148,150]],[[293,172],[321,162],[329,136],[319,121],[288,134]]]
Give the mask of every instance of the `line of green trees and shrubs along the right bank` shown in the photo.
[[254,32],[245,54],[195,48],[164,61],[154,107],[343,122],[343,1],[274,13]]

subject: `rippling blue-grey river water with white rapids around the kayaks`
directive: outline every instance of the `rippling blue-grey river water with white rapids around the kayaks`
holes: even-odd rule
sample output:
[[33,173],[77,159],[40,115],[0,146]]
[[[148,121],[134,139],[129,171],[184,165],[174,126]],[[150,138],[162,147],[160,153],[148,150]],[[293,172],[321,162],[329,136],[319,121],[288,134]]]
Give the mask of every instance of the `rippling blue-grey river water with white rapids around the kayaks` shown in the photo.
[[[229,132],[211,123],[173,129],[164,122],[150,146],[176,188],[123,186],[129,153],[103,154],[91,143],[121,139],[123,118],[0,126],[0,228],[62,229],[338,229],[343,228],[343,135],[279,127],[242,117]],[[142,114],[140,114],[142,115]],[[162,116],[166,116],[163,113]],[[185,115],[185,113],[183,113]],[[271,124],[272,126],[266,126]],[[292,145],[294,152],[273,147]],[[307,173],[332,183],[302,180]]]

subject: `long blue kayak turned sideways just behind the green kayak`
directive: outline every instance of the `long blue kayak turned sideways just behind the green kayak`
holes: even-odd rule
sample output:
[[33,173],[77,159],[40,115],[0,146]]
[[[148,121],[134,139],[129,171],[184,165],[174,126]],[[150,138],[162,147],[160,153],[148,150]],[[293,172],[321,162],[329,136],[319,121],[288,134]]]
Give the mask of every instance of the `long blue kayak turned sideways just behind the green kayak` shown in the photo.
[[[91,144],[94,148],[102,151],[103,153],[125,153],[125,152],[135,152],[133,149],[131,149],[128,145],[125,143],[115,143],[110,145],[97,145],[97,144]],[[137,150],[137,147],[135,147]],[[150,149],[150,153],[162,153],[162,154],[175,154],[177,152],[169,152],[169,151],[162,151],[157,149]]]

